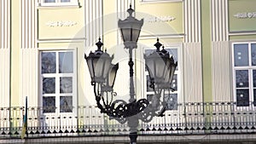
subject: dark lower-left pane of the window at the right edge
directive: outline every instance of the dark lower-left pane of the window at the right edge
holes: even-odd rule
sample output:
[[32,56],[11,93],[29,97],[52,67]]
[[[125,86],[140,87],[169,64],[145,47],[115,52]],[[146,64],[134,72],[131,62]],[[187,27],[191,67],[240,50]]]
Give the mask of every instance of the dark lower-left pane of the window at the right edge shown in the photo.
[[236,89],[236,106],[249,106],[249,89]]

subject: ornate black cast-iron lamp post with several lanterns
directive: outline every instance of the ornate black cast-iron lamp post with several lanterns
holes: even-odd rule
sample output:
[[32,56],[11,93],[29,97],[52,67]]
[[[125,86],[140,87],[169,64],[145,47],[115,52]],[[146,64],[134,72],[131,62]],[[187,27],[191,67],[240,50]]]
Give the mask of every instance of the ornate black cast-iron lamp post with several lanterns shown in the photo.
[[[113,84],[119,64],[113,65],[113,55],[108,55],[101,49],[103,43],[101,38],[96,43],[97,50],[84,55],[90,71],[91,85],[94,86],[97,107],[101,112],[106,113],[111,118],[116,118],[121,124],[127,122],[130,127],[131,144],[137,143],[137,126],[139,120],[148,123],[154,116],[162,116],[166,110],[166,102],[162,94],[166,90],[171,90],[172,78],[177,66],[172,55],[163,48],[160,50],[161,43],[157,38],[154,44],[156,50],[150,55],[144,55],[146,68],[149,72],[150,87],[154,89],[151,100],[137,100],[134,88],[134,76],[132,50],[137,48],[137,40],[143,26],[143,20],[137,20],[132,16],[133,9],[127,10],[129,16],[125,20],[119,20],[118,26],[124,41],[125,49],[129,50],[130,66],[130,100],[127,103],[123,100],[113,101],[113,96],[117,94],[113,91]],[[162,100],[161,100],[162,98]]]

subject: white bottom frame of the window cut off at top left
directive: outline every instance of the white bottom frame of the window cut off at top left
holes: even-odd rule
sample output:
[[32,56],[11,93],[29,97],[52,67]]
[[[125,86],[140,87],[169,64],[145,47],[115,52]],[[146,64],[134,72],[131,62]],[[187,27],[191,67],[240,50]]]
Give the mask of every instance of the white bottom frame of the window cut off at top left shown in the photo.
[[55,0],[55,3],[45,3],[45,0],[39,0],[38,6],[42,7],[58,7],[58,6],[79,6],[79,0],[70,0],[70,2],[62,2]]

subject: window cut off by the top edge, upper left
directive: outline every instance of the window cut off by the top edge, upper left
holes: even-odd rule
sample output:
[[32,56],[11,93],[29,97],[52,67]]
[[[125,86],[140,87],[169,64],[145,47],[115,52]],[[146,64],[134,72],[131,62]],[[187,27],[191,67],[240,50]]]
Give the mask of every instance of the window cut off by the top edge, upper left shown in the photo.
[[78,0],[40,0],[39,6],[78,6]]

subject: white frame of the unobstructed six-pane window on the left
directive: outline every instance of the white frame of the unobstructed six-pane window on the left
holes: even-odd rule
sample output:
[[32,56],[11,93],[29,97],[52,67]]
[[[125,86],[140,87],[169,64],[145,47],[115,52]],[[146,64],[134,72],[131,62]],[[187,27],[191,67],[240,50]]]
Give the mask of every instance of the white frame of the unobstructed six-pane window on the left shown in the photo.
[[[41,73],[41,63],[42,63],[42,58],[41,58],[41,53],[42,52],[55,52],[55,54],[59,52],[73,52],[73,73],[59,73],[59,55],[56,55],[56,73]],[[50,115],[59,115],[59,116],[67,116],[70,114],[73,114],[73,116],[77,115],[77,99],[78,99],[78,92],[77,92],[77,50],[76,49],[40,49],[39,50],[39,83],[40,83],[40,88],[39,88],[39,106],[43,107],[43,78],[55,78],[55,107],[56,110],[55,112],[43,112],[41,114],[45,116],[50,116]],[[61,95],[65,94],[60,94],[60,78],[61,77],[72,77],[73,78],[73,92],[71,95],[73,96],[73,112],[60,112],[60,98]],[[44,94],[45,96],[47,95],[52,95],[52,94]]]

